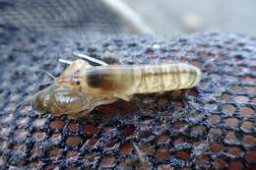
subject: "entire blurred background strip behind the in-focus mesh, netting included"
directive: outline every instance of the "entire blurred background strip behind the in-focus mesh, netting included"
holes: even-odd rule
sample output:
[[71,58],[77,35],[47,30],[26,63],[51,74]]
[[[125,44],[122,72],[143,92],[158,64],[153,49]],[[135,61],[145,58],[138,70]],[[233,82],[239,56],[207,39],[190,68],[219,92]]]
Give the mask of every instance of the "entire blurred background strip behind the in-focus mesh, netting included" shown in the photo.
[[69,29],[81,34],[171,36],[207,30],[256,35],[255,7],[253,0],[0,0],[0,28]]

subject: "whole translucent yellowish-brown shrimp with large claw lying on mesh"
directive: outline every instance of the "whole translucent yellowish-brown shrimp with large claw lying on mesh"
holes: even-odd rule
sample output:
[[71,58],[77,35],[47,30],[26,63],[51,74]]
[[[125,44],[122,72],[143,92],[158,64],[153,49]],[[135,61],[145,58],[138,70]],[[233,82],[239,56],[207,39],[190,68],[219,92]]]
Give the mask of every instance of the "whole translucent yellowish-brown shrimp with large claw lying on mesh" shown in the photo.
[[135,93],[152,93],[190,88],[201,79],[201,71],[189,64],[108,65],[87,55],[83,59],[61,62],[69,64],[52,85],[31,98],[39,112],[78,117],[96,106],[123,99],[129,101]]

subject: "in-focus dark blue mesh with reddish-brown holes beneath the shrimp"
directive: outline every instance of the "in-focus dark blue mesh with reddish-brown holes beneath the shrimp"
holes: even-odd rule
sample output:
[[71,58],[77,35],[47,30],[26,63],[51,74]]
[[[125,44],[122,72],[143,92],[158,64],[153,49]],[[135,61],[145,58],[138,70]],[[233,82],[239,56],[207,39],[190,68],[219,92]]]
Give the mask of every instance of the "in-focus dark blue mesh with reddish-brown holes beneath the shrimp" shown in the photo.
[[[199,33],[172,40],[92,40],[26,32],[4,39],[9,41],[0,50],[2,169],[256,168],[254,38]],[[186,98],[180,97],[184,91],[136,95],[139,100],[97,107],[91,118],[39,116],[29,106],[14,112],[17,103],[50,82],[35,71],[58,76],[65,68],[58,58],[72,59],[74,51],[96,58],[114,54],[122,64],[190,62],[202,69],[203,79]]]

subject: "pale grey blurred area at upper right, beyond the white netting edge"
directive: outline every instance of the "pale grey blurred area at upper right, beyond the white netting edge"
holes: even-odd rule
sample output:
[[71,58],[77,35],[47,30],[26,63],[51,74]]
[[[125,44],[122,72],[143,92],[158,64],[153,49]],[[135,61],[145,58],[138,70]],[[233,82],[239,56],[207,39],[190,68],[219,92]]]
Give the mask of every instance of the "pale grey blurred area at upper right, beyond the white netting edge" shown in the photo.
[[256,1],[122,0],[157,34],[230,31],[256,35]]

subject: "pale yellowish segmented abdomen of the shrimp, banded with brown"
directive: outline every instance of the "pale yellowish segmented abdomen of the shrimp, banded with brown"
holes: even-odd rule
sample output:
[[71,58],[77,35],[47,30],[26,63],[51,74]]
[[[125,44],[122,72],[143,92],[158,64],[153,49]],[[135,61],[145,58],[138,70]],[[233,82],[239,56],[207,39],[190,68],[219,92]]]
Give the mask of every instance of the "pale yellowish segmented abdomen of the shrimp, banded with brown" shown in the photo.
[[190,88],[201,79],[201,71],[185,63],[134,66],[141,79],[136,93],[160,92]]

